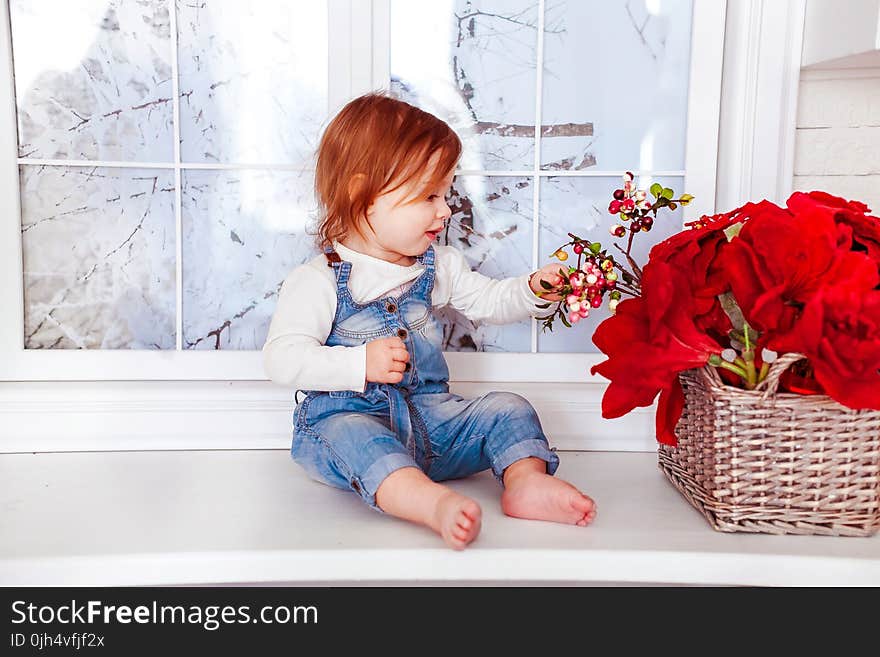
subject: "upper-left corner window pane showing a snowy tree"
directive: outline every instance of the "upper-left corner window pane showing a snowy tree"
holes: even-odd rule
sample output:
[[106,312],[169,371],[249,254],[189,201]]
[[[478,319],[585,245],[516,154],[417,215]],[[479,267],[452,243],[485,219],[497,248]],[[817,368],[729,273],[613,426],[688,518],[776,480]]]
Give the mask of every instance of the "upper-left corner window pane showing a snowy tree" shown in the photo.
[[173,159],[167,0],[13,0],[19,155]]

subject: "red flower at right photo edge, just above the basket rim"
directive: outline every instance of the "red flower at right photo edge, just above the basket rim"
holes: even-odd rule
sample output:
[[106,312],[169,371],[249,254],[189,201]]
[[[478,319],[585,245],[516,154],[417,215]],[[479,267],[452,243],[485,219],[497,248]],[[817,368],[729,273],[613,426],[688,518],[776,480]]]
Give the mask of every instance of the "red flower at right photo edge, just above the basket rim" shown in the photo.
[[823,287],[780,347],[806,355],[831,398],[880,410],[880,291]]

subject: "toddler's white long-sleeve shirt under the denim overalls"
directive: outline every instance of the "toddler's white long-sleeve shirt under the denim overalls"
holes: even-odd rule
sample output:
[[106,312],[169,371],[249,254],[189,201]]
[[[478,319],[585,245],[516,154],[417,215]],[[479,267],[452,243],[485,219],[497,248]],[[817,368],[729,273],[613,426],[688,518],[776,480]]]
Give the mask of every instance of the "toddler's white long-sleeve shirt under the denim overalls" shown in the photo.
[[[348,287],[354,300],[366,304],[389,292],[406,289],[424,271],[334,244],[351,263]],[[460,251],[434,245],[434,308],[451,306],[474,323],[507,324],[535,317],[542,303],[529,287],[530,274],[494,279],[471,271]],[[325,346],[336,316],[336,273],[320,255],[296,267],[281,286],[278,305],[263,345],[267,376],[280,385],[301,390],[366,388],[367,348]]]

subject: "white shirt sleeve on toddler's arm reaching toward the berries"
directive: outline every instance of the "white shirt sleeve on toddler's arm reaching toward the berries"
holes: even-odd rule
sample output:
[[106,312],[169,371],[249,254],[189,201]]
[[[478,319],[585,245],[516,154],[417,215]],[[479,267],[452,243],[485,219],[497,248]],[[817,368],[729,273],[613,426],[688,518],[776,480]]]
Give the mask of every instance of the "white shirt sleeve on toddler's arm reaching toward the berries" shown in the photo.
[[434,306],[451,306],[475,323],[508,324],[537,317],[546,303],[529,287],[531,273],[491,278],[471,271],[464,255],[451,246],[435,247]]

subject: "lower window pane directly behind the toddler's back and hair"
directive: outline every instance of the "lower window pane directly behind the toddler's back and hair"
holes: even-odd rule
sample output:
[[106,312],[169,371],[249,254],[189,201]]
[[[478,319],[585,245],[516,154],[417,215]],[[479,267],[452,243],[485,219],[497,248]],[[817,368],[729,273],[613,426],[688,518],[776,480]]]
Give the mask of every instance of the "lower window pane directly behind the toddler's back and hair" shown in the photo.
[[311,172],[184,172],[184,349],[262,348],[282,281],[318,254],[305,234],[316,210],[312,180]]

